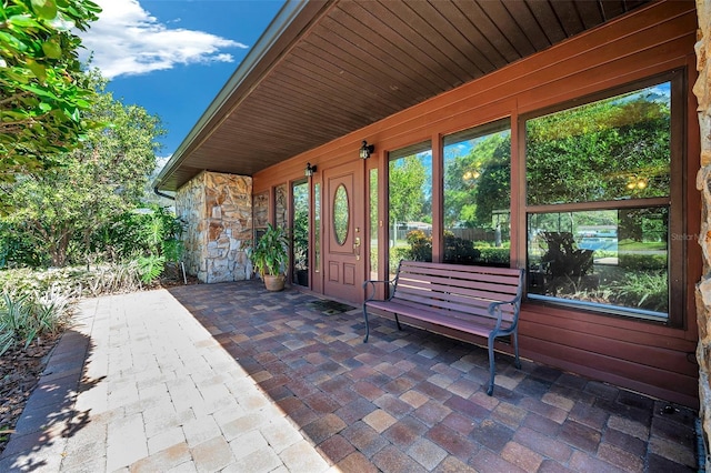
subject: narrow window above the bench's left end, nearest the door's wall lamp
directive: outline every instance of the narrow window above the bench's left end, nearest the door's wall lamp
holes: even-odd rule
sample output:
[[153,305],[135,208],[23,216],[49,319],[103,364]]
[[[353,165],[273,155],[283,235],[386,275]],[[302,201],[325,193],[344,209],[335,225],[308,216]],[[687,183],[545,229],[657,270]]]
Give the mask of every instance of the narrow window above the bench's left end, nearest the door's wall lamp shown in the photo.
[[391,152],[388,168],[390,274],[400,260],[432,261],[432,145]]

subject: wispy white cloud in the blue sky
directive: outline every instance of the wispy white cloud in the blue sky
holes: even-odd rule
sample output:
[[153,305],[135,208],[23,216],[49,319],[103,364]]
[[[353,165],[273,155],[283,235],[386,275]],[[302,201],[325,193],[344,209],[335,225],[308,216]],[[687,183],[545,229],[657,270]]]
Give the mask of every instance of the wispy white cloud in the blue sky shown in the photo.
[[138,0],[94,1],[103,11],[81,37],[86,54],[92,54],[91,66],[109,79],[177,64],[232,62],[234,57],[223,49],[248,48],[204,31],[169,29],[143,10]]

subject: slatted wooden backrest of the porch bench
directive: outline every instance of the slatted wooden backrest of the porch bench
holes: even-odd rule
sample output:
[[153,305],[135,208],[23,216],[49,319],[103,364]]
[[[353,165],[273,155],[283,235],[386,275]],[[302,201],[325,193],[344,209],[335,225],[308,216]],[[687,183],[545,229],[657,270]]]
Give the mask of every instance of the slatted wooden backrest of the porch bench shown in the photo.
[[481,316],[492,316],[491,302],[515,299],[513,304],[501,306],[502,320],[513,323],[521,306],[522,285],[520,269],[403,260],[391,299]]

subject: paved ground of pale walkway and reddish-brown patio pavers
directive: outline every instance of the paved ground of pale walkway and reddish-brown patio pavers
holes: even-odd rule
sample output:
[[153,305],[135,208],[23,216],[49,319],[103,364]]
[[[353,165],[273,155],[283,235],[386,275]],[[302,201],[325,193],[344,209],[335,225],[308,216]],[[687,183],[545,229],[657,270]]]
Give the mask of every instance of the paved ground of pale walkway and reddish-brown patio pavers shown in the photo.
[[260,283],[84,301],[0,471],[695,471],[697,413]]

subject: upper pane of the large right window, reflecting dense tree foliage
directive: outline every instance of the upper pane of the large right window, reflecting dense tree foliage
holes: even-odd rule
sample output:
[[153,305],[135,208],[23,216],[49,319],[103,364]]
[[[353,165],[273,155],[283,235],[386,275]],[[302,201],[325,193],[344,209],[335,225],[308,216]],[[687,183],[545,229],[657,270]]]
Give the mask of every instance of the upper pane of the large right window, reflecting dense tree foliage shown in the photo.
[[670,119],[648,92],[529,120],[529,204],[669,195]]

